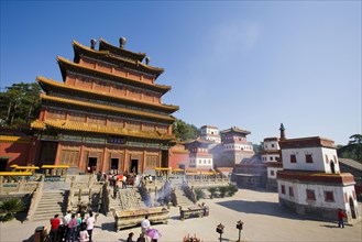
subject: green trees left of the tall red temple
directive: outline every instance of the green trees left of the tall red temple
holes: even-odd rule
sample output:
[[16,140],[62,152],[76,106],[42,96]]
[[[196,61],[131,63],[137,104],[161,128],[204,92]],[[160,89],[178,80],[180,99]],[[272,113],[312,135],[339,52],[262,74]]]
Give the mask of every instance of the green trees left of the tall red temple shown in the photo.
[[0,125],[19,128],[39,116],[41,88],[36,82],[13,84],[0,94]]

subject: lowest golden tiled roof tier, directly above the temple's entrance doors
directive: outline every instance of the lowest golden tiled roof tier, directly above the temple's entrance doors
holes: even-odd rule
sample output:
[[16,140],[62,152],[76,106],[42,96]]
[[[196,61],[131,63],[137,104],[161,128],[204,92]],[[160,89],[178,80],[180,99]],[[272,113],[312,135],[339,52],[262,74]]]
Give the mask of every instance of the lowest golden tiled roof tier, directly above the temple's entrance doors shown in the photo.
[[161,133],[160,131],[140,131],[140,130],[129,130],[120,127],[106,127],[100,124],[84,123],[84,122],[74,122],[66,120],[45,120],[40,121],[35,120],[31,123],[32,129],[46,130],[47,128],[66,130],[66,131],[83,131],[91,133],[106,133],[113,135],[124,135],[133,138],[143,138],[143,139],[155,139],[155,140],[174,140],[173,135],[167,133]]

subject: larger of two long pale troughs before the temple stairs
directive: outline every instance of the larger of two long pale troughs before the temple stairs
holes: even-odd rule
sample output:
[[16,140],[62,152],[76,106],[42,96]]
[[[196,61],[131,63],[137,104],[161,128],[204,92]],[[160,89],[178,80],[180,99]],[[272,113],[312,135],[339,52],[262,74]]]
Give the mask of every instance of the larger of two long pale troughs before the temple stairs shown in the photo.
[[147,215],[151,223],[168,222],[168,210],[164,207],[155,207],[131,211],[114,211],[114,228],[118,232],[120,229],[135,227],[141,224]]

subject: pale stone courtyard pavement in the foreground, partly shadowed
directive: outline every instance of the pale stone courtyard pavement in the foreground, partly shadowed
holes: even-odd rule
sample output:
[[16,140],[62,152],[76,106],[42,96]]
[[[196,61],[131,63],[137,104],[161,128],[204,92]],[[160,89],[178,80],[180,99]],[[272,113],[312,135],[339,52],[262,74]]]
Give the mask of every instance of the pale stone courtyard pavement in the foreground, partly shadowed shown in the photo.
[[[233,197],[202,201],[210,207],[209,217],[180,221],[178,208],[172,208],[168,224],[153,224],[152,228],[162,233],[158,241],[183,241],[187,234],[196,234],[204,242],[218,241],[216,227],[220,222],[224,224],[223,241],[237,241],[239,231],[235,226],[239,220],[244,222],[243,241],[362,241],[361,221],[339,229],[336,222],[311,220],[279,207],[275,193],[241,189]],[[100,215],[94,230],[94,241],[125,242],[130,232],[134,232],[134,240],[140,234],[139,227],[117,233],[113,223],[113,218]],[[0,241],[26,241],[36,227],[44,224],[48,227],[48,221],[0,223]]]

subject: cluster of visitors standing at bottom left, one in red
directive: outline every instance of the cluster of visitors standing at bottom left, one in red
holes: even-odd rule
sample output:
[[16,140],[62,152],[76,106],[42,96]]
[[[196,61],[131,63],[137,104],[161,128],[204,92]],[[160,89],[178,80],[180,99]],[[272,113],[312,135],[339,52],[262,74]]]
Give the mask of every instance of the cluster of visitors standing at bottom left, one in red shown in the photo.
[[95,222],[96,219],[92,211],[89,211],[87,218],[84,211],[73,213],[68,210],[62,220],[59,219],[59,215],[55,215],[54,218],[51,219],[50,239],[52,242],[91,242]]

